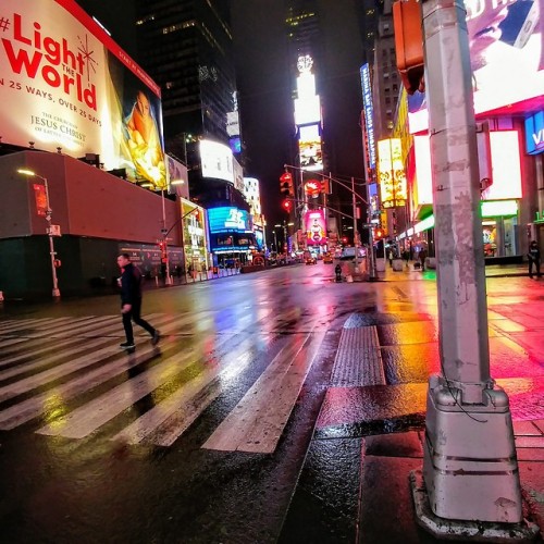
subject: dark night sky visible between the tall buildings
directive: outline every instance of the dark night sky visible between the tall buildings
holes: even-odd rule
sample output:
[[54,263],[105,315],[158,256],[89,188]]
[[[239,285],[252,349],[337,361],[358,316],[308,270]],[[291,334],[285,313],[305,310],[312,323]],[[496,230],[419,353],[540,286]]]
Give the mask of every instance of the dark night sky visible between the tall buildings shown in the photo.
[[[137,61],[131,0],[77,0],[112,33],[112,38]],[[320,1],[326,21],[324,137],[339,175],[363,176],[361,108],[358,70],[362,48],[354,16],[355,0]],[[284,219],[280,181],[290,159],[293,116],[285,7],[282,0],[231,0],[245,175],[261,182],[261,202],[269,227]]]

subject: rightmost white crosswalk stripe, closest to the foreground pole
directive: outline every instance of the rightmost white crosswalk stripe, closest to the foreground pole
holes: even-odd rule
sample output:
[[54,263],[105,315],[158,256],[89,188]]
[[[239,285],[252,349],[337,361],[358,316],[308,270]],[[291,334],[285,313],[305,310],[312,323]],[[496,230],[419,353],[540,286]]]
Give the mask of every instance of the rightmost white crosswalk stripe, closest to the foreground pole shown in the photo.
[[273,453],[324,336],[309,333],[284,346],[202,448]]

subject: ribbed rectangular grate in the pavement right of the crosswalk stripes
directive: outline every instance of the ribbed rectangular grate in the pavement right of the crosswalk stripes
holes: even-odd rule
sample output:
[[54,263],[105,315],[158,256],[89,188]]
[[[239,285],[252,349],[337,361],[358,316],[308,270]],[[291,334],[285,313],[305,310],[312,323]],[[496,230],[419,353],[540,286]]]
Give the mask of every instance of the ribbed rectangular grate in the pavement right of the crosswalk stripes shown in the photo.
[[344,327],[334,359],[332,387],[385,385],[375,326]]

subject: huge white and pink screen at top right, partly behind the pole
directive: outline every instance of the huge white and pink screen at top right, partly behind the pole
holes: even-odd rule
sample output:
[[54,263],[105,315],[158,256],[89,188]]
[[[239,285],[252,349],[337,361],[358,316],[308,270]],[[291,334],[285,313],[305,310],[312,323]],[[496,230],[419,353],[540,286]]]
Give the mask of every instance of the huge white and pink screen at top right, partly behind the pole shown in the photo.
[[[474,111],[544,95],[544,0],[466,0]],[[539,98],[540,97],[540,98]],[[408,98],[410,132],[428,127],[425,96]]]

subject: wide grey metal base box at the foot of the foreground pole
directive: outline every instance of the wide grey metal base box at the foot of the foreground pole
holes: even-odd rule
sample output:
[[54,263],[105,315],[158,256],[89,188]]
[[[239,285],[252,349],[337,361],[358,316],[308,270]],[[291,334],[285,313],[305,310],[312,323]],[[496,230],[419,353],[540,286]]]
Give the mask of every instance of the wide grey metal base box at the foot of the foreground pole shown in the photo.
[[518,523],[521,486],[508,396],[486,388],[482,404],[431,376],[423,474],[432,511],[445,519]]

